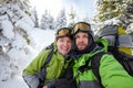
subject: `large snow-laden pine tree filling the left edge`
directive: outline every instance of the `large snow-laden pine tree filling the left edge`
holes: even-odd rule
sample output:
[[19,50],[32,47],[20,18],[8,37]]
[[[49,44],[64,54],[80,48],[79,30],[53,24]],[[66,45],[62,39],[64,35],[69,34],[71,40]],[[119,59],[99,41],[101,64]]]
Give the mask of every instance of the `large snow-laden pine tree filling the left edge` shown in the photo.
[[[0,81],[22,69],[22,57],[34,46],[29,0],[0,0]],[[21,74],[21,73],[20,73]]]

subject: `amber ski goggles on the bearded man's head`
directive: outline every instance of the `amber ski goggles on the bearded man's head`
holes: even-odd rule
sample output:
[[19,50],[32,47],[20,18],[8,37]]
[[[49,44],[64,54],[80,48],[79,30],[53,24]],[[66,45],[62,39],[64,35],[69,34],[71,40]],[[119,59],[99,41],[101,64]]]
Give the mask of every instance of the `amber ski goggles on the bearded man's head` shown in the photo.
[[73,30],[72,30],[72,34],[76,34],[79,31],[82,32],[91,32],[91,28],[90,24],[85,23],[85,22],[79,22],[76,24],[74,24]]

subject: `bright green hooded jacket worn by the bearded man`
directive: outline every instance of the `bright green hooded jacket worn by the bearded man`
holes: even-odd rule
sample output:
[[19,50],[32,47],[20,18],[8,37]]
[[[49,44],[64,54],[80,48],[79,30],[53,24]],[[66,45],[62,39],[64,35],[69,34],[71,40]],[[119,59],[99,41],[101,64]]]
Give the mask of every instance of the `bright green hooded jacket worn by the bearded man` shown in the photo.
[[[96,77],[92,69],[81,73],[78,68],[84,65],[86,59],[90,59],[94,54],[108,51],[108,42],[105,40],[96,40],[98,44],[102,44],[99,51],[93,51],[89,54],[82,55],[74,61],[73,73],[79,88],[100,88]],[[91,62],[89,63],[91,66]],[[133,77],[127,75],[120,63],[109,54],[102,56],[100,62],[99,73],[104,88],[132,88]]]

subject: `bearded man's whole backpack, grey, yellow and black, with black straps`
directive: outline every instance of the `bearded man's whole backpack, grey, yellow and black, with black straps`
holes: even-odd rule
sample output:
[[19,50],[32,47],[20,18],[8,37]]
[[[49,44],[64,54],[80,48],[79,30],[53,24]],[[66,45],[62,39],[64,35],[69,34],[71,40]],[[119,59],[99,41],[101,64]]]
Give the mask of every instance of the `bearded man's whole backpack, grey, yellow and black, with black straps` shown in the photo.
[[[109,42],[108,53],[100,52],[95,54],[85,62],[85,65],[79,67],[79,70],[83,73],[86,69],[92,69],[101,88],[104,88],[101,84],[101,77],[99,74],[100,61],[102,55],[112,54],[127,74],[133,77],[133,43],[131,36],[125,33],[125,30],[117,25],[108,25],[102,31],[98,32],[96,37],[106,38]],[[90,67],[88,66],[89,62],[91,62]]]

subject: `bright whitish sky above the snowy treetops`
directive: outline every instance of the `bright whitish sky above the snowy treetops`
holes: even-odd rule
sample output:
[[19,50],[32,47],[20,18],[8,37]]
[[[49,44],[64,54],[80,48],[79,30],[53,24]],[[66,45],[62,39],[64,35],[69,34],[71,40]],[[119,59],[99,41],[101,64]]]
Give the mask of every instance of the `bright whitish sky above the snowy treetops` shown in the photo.
[[31,6],[35,6],[39,16],[44,13],[44,10],[57,16],[59,11],[64,8],[66,12],[74,8],[80,16],[89,15],[92,18],[95,14],[95,0],[30,0]]

